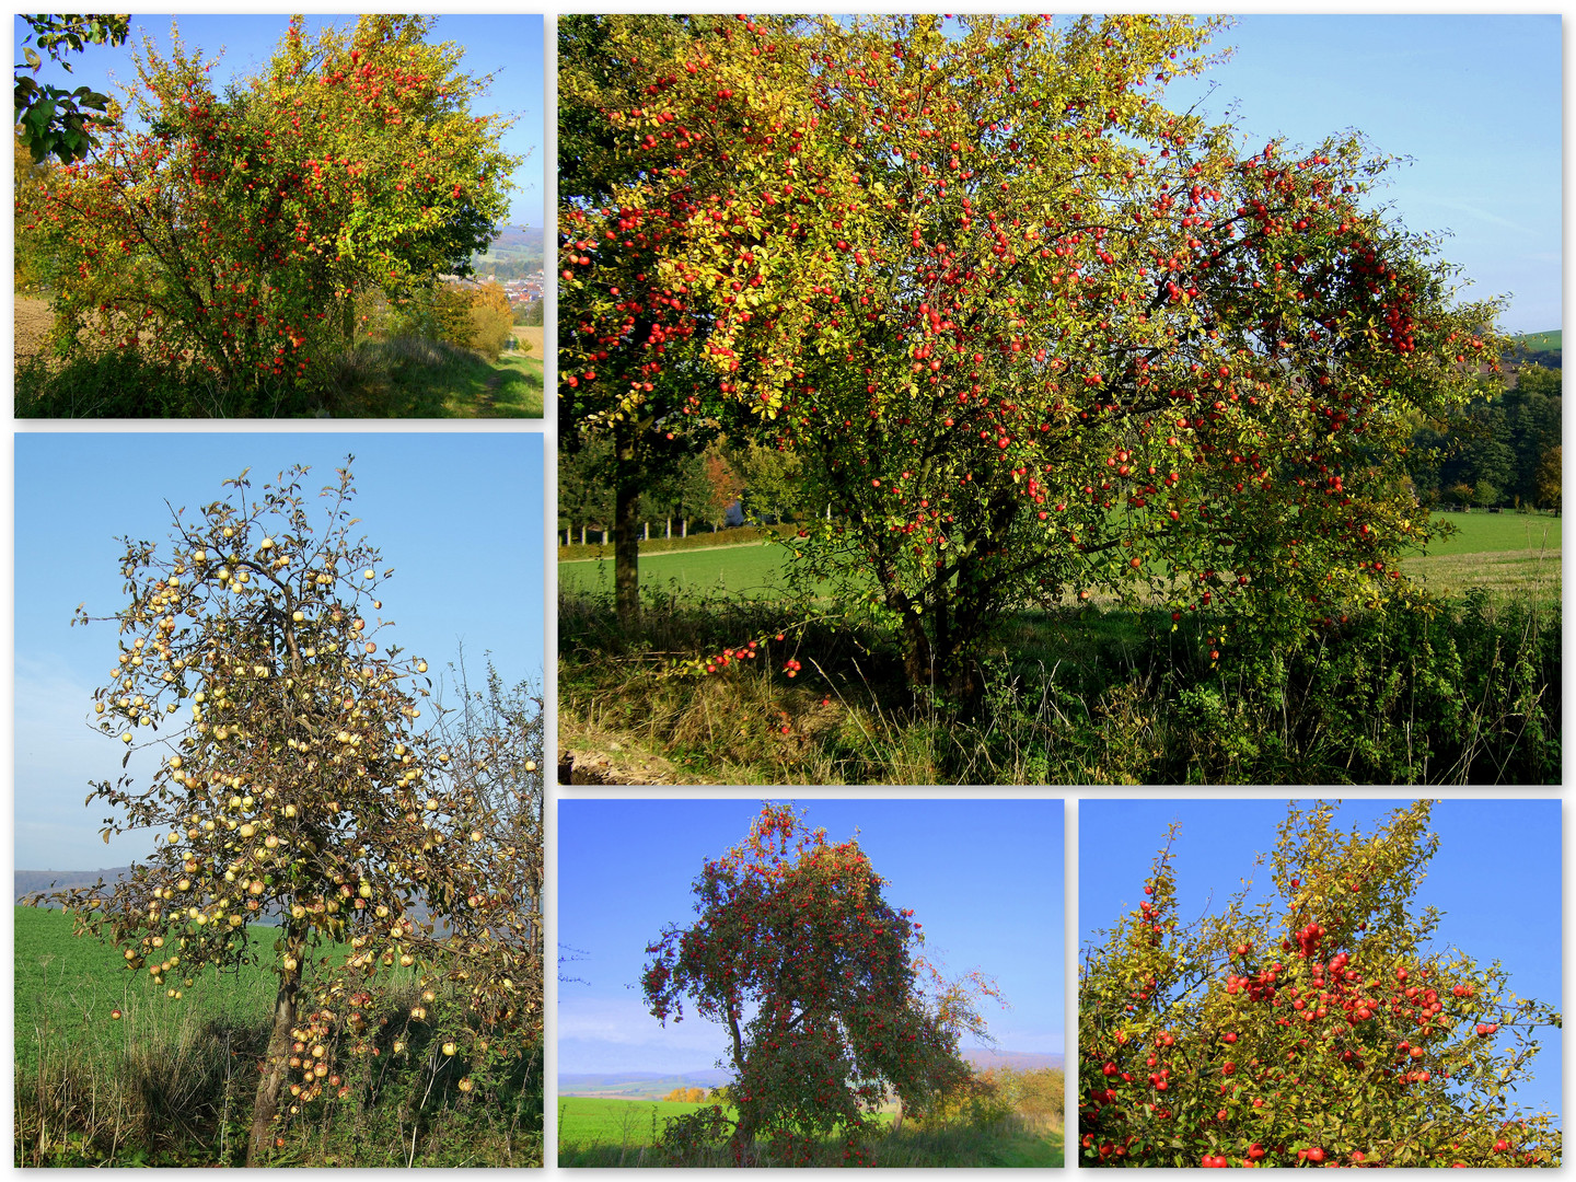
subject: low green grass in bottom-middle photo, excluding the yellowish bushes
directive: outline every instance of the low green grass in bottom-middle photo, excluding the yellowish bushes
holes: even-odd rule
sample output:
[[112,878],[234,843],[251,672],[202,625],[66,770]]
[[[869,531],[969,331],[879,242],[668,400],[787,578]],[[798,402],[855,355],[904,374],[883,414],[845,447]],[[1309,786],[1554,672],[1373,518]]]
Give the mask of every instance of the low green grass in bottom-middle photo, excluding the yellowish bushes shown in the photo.
[[[558,1163],[561,1166],[660,1166],[668,1165],[657,1138],[663,1121],[708,1105],[673,1100],[604,1100],[566,1095],[558,1100]],[[733,1110],[727,1110],[730,1116]],[[890,1116],[876,1117],[889,1125]],[[917,1128],[875,1133],[878,1166],[1040,1166],[1059,1168],[1064,1158],[1057,1130],[1034,1132],[1007,1119],[990,1128]],[[829,1139],[813,1165],[840,1165],[843,1143]],[[723,1160],[708,1165],[727,1165]]]

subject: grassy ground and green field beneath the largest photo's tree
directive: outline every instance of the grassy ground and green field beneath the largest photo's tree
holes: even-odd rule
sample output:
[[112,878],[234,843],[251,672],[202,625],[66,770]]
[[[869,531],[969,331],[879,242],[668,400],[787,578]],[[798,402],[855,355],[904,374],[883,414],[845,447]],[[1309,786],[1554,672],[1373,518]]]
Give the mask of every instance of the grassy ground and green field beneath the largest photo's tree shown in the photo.
[[[769,545],[643,556],[634,629],[613,618],[610,561],[559,563],[559,750],[582,783],[1559,782],[1560,519],[1442,517],[1456,533],[1403,559],[1428,610],[1220,663],[1198,621],[1160,608],[1023,611],[961,719],[894,704],[890,643],[782,600]],[[761,659],[725,676],[684,668],[749,638]]]

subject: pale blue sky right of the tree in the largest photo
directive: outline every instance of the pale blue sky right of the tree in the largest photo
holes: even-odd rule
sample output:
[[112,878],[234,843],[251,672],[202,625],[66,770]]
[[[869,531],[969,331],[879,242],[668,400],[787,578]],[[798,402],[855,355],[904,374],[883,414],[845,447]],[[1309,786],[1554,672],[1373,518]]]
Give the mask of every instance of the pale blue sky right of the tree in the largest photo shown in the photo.
[[[1407,156],[1379,192],[1414,232],[1448,232],[1470,298],[1511,295],[1513,333],[1562,322],[1562,35],[1540,16],[1240,16],[1234,57],[1168,106],[1232,113],[1258,150],[1360,129]],[[1214,88],[1212,88],[1214,87]]]

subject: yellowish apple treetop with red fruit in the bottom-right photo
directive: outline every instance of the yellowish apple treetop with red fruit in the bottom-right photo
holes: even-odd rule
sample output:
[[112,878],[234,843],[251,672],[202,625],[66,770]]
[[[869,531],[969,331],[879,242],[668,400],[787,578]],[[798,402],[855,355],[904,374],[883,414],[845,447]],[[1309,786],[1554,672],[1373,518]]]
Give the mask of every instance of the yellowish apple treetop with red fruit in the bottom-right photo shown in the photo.
[[[1291,807],[1275,897],[1191,924],[1169,849],[1078,974],[1078,1135],[1110,1166],[1551,1166],[1510,1100],[1560,1015],[1431,942],[1429,801],[1373,834]],[[1507,1045],[1507,1043],[1515,1045]]]

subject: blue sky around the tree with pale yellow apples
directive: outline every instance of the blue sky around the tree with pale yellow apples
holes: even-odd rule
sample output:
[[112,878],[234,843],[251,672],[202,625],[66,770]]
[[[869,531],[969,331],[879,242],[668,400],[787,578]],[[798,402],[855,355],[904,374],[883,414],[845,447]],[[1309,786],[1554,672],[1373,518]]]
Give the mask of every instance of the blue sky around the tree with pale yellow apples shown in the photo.
[[[16,437],[16,867],[95,870],[145,854],[147,834],[106,846],[88,782],[113,779],[121,745],[88,727],[125,605],[115,539],[164,544],[175,507],[194,514],[251,468],[252,493],[293,463],[307,500],[345,455],[356,531],[383,552],[389,640],[446,671],[465,646],[473,682],[487,652],[507,684],[542,682],[542,437],[493,433],[19,433]],[[317,515],[317,522],[323,517]],[[381,567],[380,567],[381,569]],[[151,750],[140,760],[143,774]],[[131,771],[139,771],[134,758]]]

